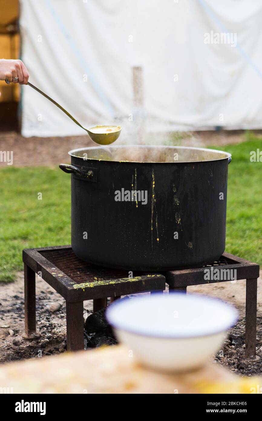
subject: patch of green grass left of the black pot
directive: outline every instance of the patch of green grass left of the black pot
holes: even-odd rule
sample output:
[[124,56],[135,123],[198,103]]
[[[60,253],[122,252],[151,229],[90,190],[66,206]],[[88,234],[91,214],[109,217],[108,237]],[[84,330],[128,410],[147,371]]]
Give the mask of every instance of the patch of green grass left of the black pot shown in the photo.
[[23,248],[70,244],[70,180],[58,166],[0,170],[0,281],[23,268]]

